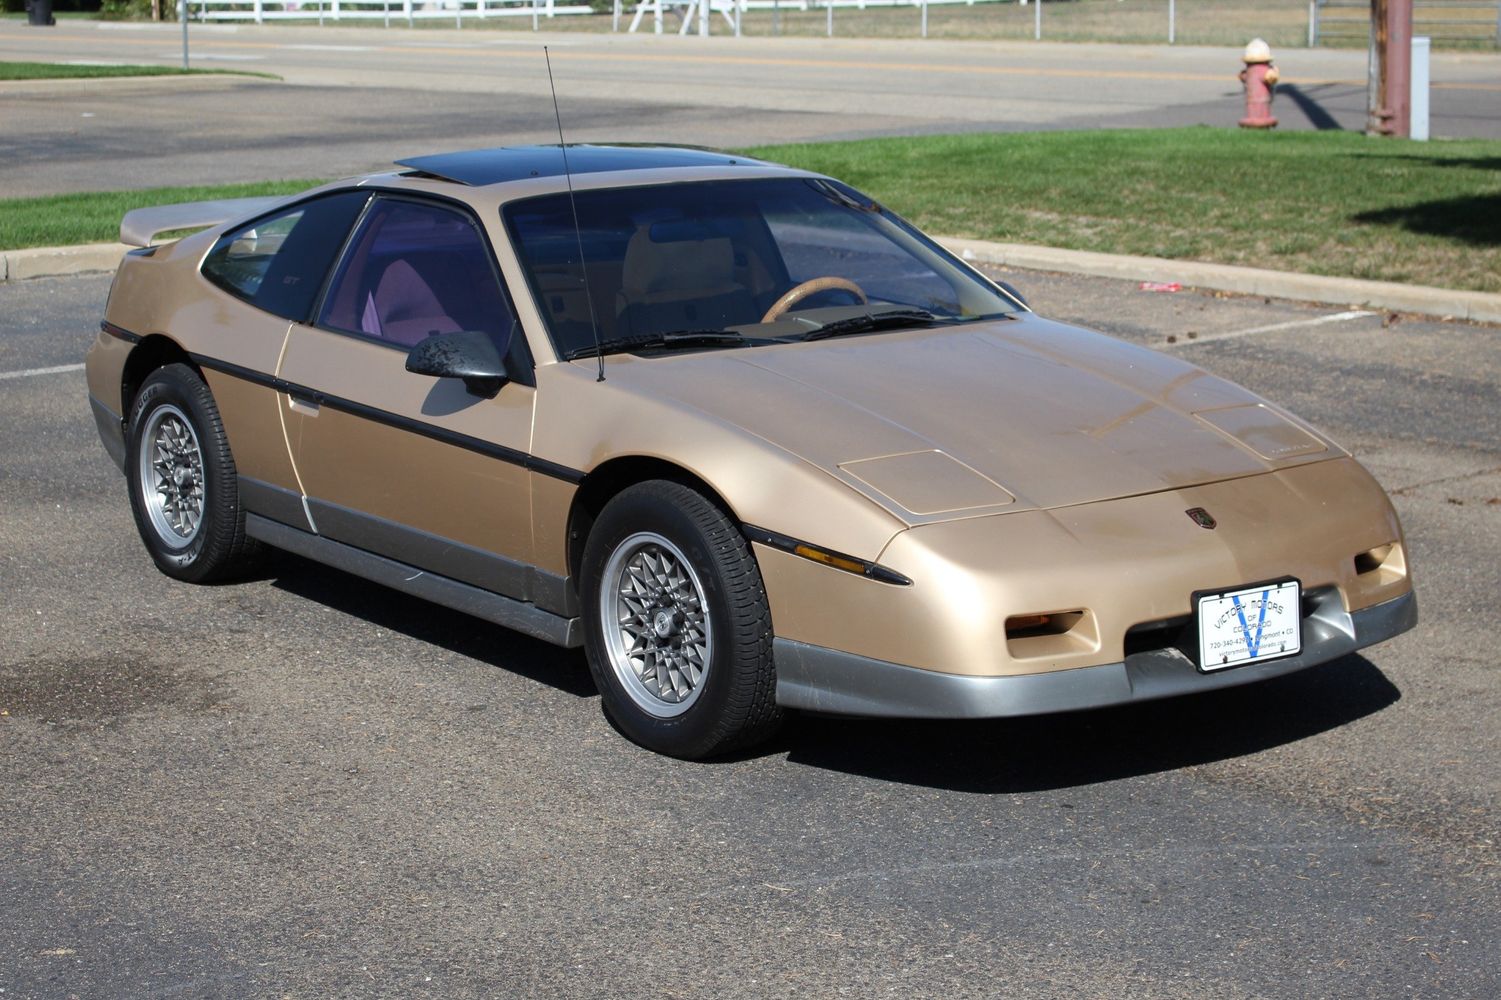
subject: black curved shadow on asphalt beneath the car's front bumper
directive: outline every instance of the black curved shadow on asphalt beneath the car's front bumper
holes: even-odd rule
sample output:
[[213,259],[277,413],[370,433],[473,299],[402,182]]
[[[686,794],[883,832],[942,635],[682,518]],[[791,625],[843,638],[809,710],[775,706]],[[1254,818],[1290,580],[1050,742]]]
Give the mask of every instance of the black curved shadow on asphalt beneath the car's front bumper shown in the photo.
[[800,716],[761,752],[929,788],[1045,791],[1256,754],[1400,697],[1370,661],[1351,655],[1243,688],[1096,712],[965,722]]

